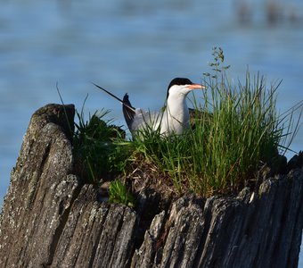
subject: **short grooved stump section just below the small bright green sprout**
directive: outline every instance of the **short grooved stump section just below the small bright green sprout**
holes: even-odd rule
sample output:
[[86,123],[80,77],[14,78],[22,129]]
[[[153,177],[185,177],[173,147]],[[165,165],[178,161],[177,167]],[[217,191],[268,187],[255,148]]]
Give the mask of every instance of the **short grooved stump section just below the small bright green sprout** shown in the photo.
[[133,251],[135,212],[125,205],[96,202],[84,186],[70,209],[52,267],[126,267]]

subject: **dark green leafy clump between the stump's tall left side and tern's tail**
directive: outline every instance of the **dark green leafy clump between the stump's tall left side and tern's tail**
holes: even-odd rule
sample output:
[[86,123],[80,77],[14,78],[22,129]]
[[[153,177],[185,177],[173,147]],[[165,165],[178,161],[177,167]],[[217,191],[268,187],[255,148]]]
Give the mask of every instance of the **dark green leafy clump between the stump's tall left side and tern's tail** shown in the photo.
[[115,143],[124,131],[103,120],[108,113],[94,113],[86,121],[82,108],[81,113],[77,112],[78,123],[75,122],[75,169],[82,180],[95,185],[104,179],[111,180],[111,176],[121,172],[126,161],[127,152],[123,154]]

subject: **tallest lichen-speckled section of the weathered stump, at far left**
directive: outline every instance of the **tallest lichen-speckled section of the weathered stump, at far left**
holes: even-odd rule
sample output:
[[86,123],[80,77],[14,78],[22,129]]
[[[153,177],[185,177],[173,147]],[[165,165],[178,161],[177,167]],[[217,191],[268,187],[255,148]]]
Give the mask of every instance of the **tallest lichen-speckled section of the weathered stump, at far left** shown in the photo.
[[[74,108],[66,106],[73,121]],[[72,176],[70,130],[61,105],[35,113],[4,200],[0,267],[49,264],[78,180]],[[71,124],[72,125],[72,124]]]

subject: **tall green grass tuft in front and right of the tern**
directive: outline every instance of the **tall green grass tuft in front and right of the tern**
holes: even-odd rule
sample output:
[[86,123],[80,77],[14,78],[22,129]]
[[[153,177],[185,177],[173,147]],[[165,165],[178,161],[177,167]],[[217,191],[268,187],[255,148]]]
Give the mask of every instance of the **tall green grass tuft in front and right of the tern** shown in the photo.
[[265,77],[251,78],[247,71],[245,83],[233,85],[223,51],[215,48],[213,55],[212,72],[204,74],[208,89],[199,104],[193,101],[194,130],[168,138],[147,130],[135,140],[136,151],[167,173],[178,192],[190,189],[203,197],[249,185],[261,165],[288,149],[296,132],[290,127],[293,110],[276,113],[280,82],[266,88]]

